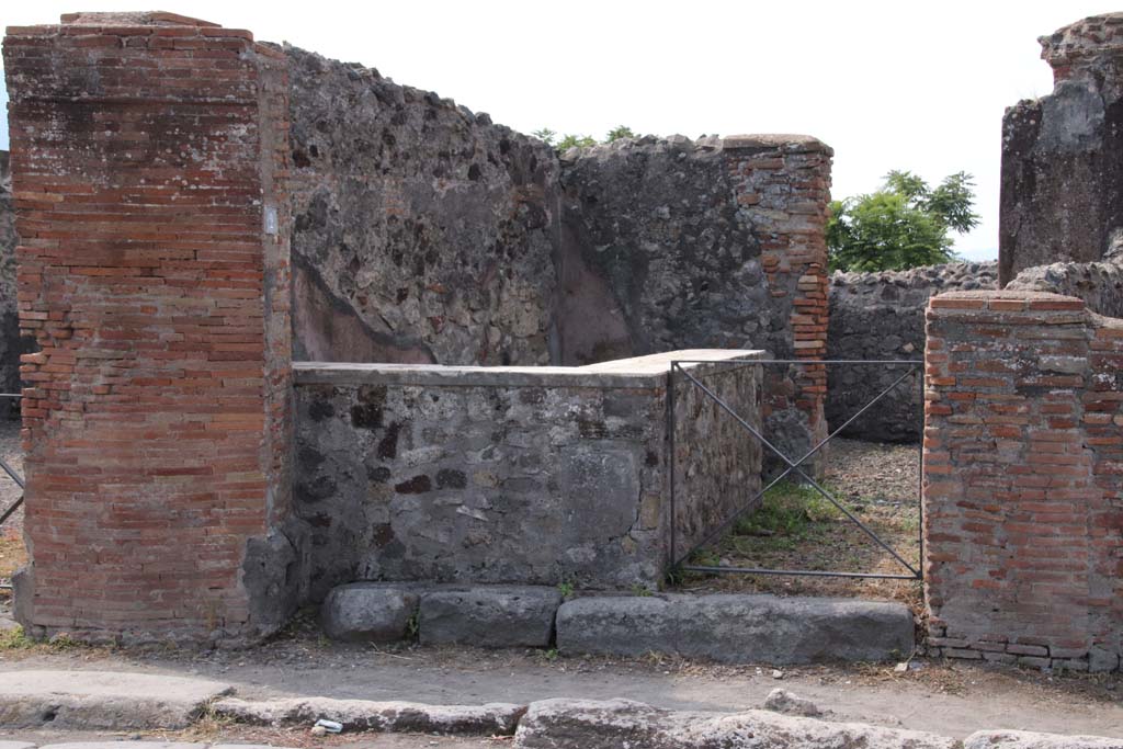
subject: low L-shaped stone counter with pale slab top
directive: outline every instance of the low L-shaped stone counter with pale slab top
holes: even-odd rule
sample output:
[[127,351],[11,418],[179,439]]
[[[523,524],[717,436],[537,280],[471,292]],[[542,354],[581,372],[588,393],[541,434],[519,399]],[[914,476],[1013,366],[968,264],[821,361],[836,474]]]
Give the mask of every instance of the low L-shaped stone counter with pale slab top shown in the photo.
[[356,579],[655,588],[760,486],[760,351],[587,367],[295,365],[311,595]]

